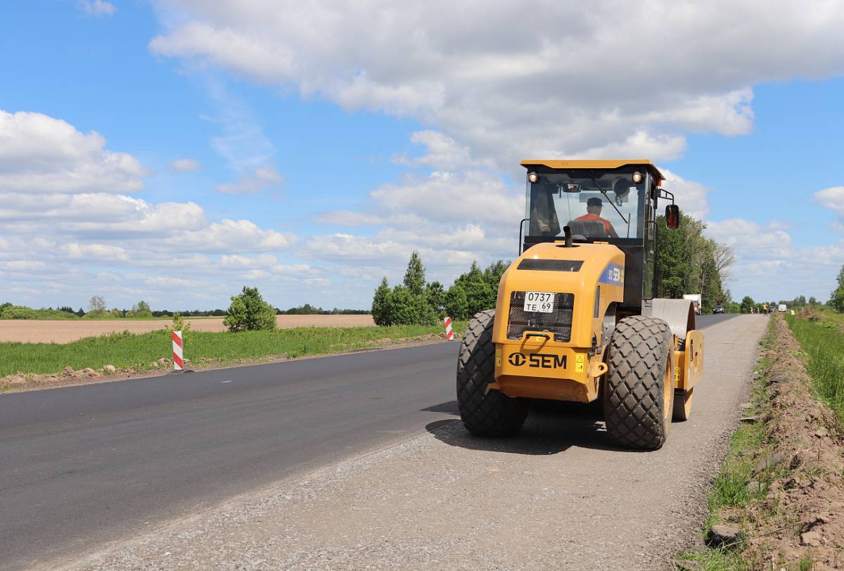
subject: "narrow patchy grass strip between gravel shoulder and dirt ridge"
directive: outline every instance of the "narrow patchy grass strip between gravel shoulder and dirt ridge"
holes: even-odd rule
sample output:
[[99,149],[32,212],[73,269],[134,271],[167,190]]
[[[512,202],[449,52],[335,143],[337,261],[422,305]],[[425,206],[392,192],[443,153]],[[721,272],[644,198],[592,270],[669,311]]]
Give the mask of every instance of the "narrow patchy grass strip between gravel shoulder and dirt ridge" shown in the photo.
[[[765,337],[760,340],[760,353],[767,353],[773,338],[773,321]],[[749,403],[754,405],[748,416],[766,416],[765,382],[771,358],[763,356],[755,367],[753,385],[750,387]],[[721,472],[712,482],[712,489],[706,498],[709,514],[704,520],[701,536],[706,541],[712,525],[733,525],[742,527],[744,515],[741,510],[750,503],[764,498],[771,483],[772,474],[761,473],[754,479],[754,458],[764,449],[766,423],[742,423],[730,437],[727,455]],[[742,557],[743,546],[704,547],[679,553],[676,568],[694,571],[744,571],[751,569]]]

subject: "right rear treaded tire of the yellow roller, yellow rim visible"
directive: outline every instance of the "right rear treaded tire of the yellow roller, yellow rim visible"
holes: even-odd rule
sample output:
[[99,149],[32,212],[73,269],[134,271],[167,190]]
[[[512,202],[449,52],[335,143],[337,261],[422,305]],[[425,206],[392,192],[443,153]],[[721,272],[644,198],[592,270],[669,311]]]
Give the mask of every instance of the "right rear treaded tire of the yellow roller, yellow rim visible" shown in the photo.
[[637,450],[665,443],[674,412],[672,340],[668,323],[655,317],[633,315],[615,326],[603,398],[607,434],[615,443]]

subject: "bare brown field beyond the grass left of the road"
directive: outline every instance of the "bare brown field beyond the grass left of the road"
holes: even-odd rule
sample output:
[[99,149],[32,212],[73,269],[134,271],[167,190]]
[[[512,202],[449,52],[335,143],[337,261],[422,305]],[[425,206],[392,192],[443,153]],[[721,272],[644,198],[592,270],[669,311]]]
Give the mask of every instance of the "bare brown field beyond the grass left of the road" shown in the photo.
[[[192,331],[225,331],[222,317],[187,319]],[[276,315],[280,329],[293,327],[355,327],[375,325],[371,315]],[[0,321],[0,342],[54,342],[69,343],[83,337],[95,337],[106,333],[132,331],[146,333],[169,326],[169,320],[155,321]]]

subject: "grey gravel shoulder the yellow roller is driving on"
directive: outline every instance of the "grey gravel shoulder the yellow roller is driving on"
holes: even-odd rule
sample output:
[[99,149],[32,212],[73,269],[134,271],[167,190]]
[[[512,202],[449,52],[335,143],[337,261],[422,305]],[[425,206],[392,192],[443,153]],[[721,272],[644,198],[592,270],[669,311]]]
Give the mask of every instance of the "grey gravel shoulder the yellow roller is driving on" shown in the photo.
[[695,409],[662,450],[609,448],[587,407],[533,411],[513,439],[438,421],[63,568],[671,568],[696,541],[766,324],[706,329]]

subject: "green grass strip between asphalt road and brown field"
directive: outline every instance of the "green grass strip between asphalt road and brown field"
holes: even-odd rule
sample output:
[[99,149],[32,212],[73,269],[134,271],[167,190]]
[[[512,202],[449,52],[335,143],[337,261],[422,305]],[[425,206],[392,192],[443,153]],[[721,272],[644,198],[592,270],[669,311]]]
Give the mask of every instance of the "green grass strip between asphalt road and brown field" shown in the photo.
[[[466,322],[456,322],[460,334]],[[235,364],[286,355],[300,357],[338,353],[365,347],[386,339],[412,339],[442,335],[442,326],[390,327],[300,327],[276,331],[241,333],[190,331],[185,339],[185,357],[192,364]],[[152,331],[141,335],[128,332],[87,337],[76,342],[0,343],[0,377],[18,371],[33,374],[57,373],[65,367],[84,369],[111,364],[117,369],[153,369],[154,361],[170,358],[170,333]]]

